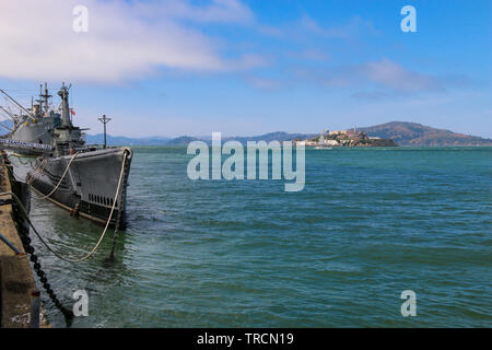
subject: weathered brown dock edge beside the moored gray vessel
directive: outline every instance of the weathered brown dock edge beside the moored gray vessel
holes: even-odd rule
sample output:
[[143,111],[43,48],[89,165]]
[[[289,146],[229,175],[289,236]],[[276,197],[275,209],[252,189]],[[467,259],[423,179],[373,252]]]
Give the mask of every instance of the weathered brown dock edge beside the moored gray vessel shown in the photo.
[[[0,154],[0,192],[17,194],[12,177],[12,165],[4,151]],[[36,289],[34,273],[26,255],[20,231],[22,222],[15,215],[12,195],[0,196],[0,327],[28,328],[31,326],[31,308]],[[25,228],[24,228],[25,230]],[[34,296],[32,296],[34,295]],[[34,299],[33,299],[34,298]],[[37,301],[36,303],[38,304]],[[42,327],[47,326],[42,322]]]

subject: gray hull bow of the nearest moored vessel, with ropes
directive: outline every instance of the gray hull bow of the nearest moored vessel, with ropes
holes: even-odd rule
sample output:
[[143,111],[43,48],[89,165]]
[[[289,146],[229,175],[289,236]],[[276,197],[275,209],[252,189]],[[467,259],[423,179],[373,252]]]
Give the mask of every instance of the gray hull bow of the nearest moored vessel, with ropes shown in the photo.
[[[131,149],[115,148],[73,156],[38,159],[35,170],[27,174],[26,180],[39,195],[47,196],[46,199],[70,210],[72,214],[101,224],[106,224],[117,197],[109,225],[115,226],[118,221],[119,228],[125,228],[126,187],[132,159]],[[73,161],[63,180],[54,191],[72,158]],[[122,166],[125,170],[121,175]],[[121,184],[116,196],[120,175]]]

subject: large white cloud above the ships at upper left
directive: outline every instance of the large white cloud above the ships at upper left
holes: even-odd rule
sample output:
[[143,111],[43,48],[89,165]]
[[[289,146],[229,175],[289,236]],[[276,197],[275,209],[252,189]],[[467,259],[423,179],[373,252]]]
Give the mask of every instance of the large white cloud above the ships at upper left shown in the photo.
[[[89,10],[89,32],[75,33],[73,8]],[[244,70],[265,63],[245,55],[225,59],[211,37],[183,21],[247,23],[236,0],[208,5],[186,1],[17,0],[0,11],[0,78],[119,83],[160,68]]]

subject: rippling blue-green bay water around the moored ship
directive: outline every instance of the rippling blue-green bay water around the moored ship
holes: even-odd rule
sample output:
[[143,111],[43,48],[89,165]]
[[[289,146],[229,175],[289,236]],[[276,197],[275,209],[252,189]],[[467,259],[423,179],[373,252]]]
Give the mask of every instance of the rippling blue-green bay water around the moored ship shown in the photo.
[[[491,148],[308,150],[301,192],[192,182],[189,158],[134,148],[113,266],[112,235],[77,265],[35,241],[63,303],[89,292],[90,316],[72,327],[492,326]],[[102,232],[35,195],[32,206],[66,255]],[[403,290],[417,293],[417,317],[400,314]]]

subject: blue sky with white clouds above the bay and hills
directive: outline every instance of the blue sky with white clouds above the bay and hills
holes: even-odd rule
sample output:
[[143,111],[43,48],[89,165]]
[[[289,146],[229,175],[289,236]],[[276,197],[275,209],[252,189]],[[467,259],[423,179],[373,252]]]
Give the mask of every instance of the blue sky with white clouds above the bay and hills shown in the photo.
[[492,138],[491,14],[490,0],[0,0],[0,89],[30,105],[46,81],[58,104],[71,83],[89,133],[106,114],[127,137],[400,120]]

